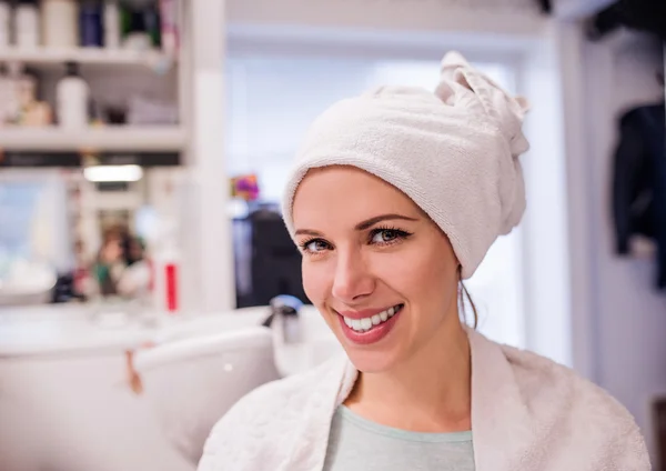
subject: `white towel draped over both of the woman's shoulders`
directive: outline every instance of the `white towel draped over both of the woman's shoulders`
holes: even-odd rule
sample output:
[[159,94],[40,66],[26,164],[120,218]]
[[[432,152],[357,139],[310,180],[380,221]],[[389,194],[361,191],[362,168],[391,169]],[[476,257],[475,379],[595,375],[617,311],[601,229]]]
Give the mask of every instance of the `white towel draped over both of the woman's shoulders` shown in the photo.
[[[534,353],[468,330],[476,471],[649,471],[632,415],[605,391]],[[346,358],[261,387],[215,425],[199,471],[321,471]]]

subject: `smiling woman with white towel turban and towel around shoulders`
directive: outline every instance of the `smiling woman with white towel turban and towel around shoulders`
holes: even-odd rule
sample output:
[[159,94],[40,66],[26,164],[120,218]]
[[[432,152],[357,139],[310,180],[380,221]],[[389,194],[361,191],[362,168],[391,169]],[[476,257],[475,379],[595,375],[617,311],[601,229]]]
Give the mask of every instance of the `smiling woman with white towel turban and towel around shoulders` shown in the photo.
[[461,322],[462,280],[525,209],[525,110],[452,53],[434,94],[381,88],[315,121],[284,219],[349,359],[242,399],[200,470],[649,470],[615,400]]

